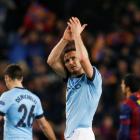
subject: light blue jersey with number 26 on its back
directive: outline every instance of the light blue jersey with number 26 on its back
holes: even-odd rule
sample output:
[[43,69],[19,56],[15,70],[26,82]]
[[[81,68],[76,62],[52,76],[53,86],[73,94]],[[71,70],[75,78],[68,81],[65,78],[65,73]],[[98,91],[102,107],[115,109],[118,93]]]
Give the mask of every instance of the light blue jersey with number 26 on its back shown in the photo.
[[32,123],[43,115],[39,98],[24,88],[13,88],[0,97],[5,116],[4,140],[32,140]]

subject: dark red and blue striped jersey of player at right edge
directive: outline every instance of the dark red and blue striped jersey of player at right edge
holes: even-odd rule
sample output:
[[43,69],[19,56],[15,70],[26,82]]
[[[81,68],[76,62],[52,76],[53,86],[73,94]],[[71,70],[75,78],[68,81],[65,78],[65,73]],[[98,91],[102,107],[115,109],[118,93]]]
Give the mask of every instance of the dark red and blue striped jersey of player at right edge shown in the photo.
[[121,105],[118,140],[140,140],[140,92],[134,93]]

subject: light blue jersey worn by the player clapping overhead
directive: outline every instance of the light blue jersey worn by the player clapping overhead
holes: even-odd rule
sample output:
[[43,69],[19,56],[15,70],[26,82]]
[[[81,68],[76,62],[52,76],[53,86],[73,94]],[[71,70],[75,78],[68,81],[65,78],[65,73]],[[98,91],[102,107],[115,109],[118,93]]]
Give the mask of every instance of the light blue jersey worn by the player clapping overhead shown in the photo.
[[76,128],[92,127],[101,93],[102,78],[95,67],[92,79],[85,74],[68,78],[65,138],[70,137]]

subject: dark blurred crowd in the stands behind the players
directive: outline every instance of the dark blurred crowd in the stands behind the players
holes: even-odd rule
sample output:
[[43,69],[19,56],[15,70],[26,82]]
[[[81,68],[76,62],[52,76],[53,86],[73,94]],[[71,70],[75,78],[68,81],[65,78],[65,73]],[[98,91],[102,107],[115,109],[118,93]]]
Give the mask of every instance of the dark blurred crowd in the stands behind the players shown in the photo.
[[[121,79],[130,72],[140,77],[138,0],[0,0],[0,94],[7,90],[2,70],[9,63],[20,64],[24,86],[39,96],[58,140],[64,140],[65,84],[46,60],[71,16],[88,24],[82,37],[92,64],[103,77],[93,120],[96,140],[116,140]],[[34,124],[34,140],[45,139]]]

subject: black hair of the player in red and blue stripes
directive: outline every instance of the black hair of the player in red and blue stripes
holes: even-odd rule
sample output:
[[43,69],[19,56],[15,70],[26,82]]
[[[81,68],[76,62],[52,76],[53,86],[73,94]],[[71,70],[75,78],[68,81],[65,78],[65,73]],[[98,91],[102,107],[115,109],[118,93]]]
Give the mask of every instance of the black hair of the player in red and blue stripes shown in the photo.
[[135,74],[127,74],[123,80],[126,87],[129,87],[132,93],[140,90],[140,78]]

